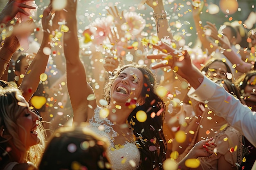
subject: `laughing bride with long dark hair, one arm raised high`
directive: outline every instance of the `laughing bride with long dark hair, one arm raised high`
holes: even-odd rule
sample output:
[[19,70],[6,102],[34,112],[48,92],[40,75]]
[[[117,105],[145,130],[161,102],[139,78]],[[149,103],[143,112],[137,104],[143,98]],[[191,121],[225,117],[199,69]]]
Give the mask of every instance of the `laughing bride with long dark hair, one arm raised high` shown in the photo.
[[[64,53],[73,124],[87,121],[89,128],[99,136],[107,137],[110,142],[108,157],[113,170],[162,169],[166,157],[162,132],[165,104],[157,95],[155,76],[143,65],[130,64],[119,68],[106,85],[106,100],[100,102],[105,108],[97,106],[79,58],[76,4],[77,1],[68,0],[68,12],[64,13],[69,28],[64,33]],[[202,147],[206,142],[200,143],[199,150],[203,153],[199,155],[208,152]],[[213,149],[209,149],[209,153],[212,154]]]

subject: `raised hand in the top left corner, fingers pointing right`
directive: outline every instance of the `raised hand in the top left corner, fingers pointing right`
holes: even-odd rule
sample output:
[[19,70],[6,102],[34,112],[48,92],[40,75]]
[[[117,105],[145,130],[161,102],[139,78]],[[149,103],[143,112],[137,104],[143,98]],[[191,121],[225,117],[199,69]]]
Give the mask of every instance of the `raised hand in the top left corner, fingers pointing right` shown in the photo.
[[9,20],[12,20],[18,12],[29,16],[22,8],[36,9],[36,7],[23,4],[23,1],[25,0],[8,0],[4,9],[0,12],[0,22],[6,24]]

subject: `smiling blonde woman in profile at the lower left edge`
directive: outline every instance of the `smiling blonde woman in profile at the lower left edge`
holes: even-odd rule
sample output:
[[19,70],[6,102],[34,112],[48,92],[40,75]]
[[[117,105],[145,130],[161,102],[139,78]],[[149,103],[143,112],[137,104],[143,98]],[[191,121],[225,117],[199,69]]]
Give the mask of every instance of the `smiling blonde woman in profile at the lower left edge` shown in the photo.
[[3,170],[36,169],[45,146],[38,115],[29,109],[21,92],[14,87],[0,87],[0,144]]

